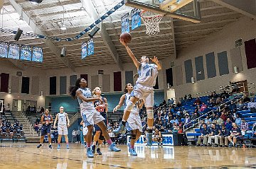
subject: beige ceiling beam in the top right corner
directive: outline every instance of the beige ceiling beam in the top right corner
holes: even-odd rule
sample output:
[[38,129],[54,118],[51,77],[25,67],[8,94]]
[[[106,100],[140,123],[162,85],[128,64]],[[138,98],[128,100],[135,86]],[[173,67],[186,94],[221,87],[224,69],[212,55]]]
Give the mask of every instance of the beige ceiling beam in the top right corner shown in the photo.
[[217,4],[220,4],[222,6],[232,9],[233,11],[242,13],[247,17],[256,19],[255,0],[246,0],[246,1],[213,0],[213,1]]

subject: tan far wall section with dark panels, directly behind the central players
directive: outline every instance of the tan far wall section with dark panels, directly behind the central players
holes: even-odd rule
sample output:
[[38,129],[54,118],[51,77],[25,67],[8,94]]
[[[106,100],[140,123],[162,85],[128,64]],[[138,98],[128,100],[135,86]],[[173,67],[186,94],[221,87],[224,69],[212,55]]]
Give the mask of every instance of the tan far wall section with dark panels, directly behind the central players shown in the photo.
[[[98,75],[98,70],[103,70],[104,75]],[[164,71],[159,72],[159,90],[164,89],[164,83],[162,83],[163,78],[165,78],[163,74]],[[121,79],[118,79],[118,81],[114,81],[114,74],[116,74],[117,72],[121,73]],[[132,81],[132,74],[136,74],[137,69],[134,64],[123,64],[123,70],[120,70],[116,64],[113,64],[78,67],[75,69],[75,72],[71,71],[70,69],[49,69],[46,70],[45,73],[47,84],[50,83],[50,77],[56,77],[56,95],[60,95],[60,86],[62,84],[60,83],[60,76],[66,76],[65,86],[67,86],[68,88],[70,86],[70,78],[72,78],[73,76],[77,76],[77,78],[80,78],[81,74],[87,74],[87,85],[92,90],[96,86],[102,86],[103,91],[107,93],[116,93],[119,91],[123,91],[126,82]],[[114,86],[116,86],[118,90],[115,89]],[[46,86],[46,91],[50,91],[49,85]],[[49,93],[46,93],[46,95],[49,95]]]

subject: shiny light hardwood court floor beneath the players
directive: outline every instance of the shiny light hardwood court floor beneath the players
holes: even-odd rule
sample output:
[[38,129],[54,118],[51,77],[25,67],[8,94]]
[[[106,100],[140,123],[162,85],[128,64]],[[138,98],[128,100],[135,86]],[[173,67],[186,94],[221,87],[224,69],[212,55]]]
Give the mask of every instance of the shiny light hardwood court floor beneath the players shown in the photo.
[[129,156],[127,146],[114,153],[102,146],[102,156],[87,158],[86,148],[62,144],[0,144],[0,168],[256,168],[256,148],[213,148],[196,146],[136,146],[138,156]]

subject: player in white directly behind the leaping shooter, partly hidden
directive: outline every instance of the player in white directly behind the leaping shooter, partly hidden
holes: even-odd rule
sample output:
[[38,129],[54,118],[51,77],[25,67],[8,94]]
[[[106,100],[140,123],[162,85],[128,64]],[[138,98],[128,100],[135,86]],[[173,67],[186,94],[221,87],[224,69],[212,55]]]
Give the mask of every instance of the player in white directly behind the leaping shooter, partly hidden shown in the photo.
[[[116,107],[114,107],[113,112],[116,112],[122,105],[124,105],[124,109],[127,107],[127,103],[129,103],[129,98],[131,97],[131,93],[133,90],[133,86],[131,83],[127,83],[124,88],[124,95],[120,98],[120,101]],[[143,101],[138,105],[136,103],[134,107],[132,107],[131,114],[126,123],[127,131],[131,132],[131,144],[129,146],[129,153],[132,156],[137,156],[137,153],[134,149],[135,142],[139,139],[139,136],[142,134],[142,120],[139,117],[139,109],[143,106]]]

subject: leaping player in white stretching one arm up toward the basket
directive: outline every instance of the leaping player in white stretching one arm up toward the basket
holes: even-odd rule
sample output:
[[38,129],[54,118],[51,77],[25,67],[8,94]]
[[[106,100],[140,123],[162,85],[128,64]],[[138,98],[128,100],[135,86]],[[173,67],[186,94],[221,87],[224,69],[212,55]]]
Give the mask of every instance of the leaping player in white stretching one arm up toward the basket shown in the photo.
[[132,58],[135,66],[137,67],[139,77],[137,78],[136,85],[134,86],[134,90],[131,93],[131,98],[127,103],[127,106],[124,110],[124,115],[122,118],[122,124],[118,127],[118,129],[114,130],[113,133],[117,134],[124,131],[125,123],[128,120],[132,107],[137,103],[139,99],[144,101],[146,107],[146,114],[147,114],[147,124],[148,124],[148,142],[147,145],[152,145],[152,129],[154,123],[154,113],[153,113],[153,106],[154,106],[154,88],[156,84],[156,77],[158,75],[158,71],[161,70],[161,65],[157,57],[151,59],[154,64],[149,64],[149,58],[143,56],[140,62],[136,59],[134,54],[132,53],[131,49],[129,49],[127,43],[124,40],[120,39],[120,42],[124,47],[127,49],[129,57]]

